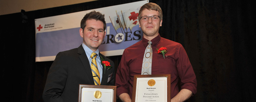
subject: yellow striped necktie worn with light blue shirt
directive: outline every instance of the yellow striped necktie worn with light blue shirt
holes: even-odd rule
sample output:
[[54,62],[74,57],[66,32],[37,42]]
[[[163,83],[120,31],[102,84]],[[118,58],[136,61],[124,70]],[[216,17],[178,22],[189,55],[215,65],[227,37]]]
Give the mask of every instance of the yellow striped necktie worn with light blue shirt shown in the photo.
[[99,70],[97,67],[97,63],[96,63],[97,56],[98,55],[96,53],[92,53],[92,55],[90,56],[92,58],[91,69],[92,69],[92,73],[93,73],[94,84],[101,85],[100,73],[99,73]]

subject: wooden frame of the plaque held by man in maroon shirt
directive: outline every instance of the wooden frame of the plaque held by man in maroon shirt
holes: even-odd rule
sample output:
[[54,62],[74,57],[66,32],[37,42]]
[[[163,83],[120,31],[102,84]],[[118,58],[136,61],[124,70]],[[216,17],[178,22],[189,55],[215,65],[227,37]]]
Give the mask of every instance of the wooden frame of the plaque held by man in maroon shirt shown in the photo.
[[149,78],[149,77],[167,77],[167,102],[171,102],[171,75],[170,74],[134,75],[132,102],[135,102],[137,78]]

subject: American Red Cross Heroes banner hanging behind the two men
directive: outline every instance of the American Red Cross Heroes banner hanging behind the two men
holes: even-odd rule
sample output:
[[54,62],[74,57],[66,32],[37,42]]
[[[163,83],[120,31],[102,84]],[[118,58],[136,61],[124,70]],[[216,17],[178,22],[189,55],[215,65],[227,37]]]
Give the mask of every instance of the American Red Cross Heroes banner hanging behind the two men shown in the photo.
[[53,61],[59,52],[80,46],[80,22],[93,10],[105,14],[107,24],[99,51],[105,56],[122,55],[125,48],[142,39],[138,14],[145,3],[148,0],[35,19],[36,62]]

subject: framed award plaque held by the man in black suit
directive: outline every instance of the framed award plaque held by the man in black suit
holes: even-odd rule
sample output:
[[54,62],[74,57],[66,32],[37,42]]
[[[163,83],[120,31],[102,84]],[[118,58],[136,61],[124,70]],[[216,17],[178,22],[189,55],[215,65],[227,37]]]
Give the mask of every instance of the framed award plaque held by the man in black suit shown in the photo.
[[116,86],[79,84],[78,102],[116,102]]

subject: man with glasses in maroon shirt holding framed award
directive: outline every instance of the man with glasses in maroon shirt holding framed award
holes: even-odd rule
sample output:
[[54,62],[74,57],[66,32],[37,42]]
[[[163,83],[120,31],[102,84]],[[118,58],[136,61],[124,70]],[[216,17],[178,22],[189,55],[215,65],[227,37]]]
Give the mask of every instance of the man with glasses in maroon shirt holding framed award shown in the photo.
[[[123,102],[131,102],[134,75],[141,75],[145,48],[151,41],[151,74],[171,74],[171,101],[187,100],[196,93],[196,77],[183,46],[159,35],[162,26],[161,8],[155,3],[144,4],[139,11],[139,26],[143,38],[124,50],[116,72],[117,96]],[[157,49],[162,46],[167,49],[164,56],[157,53]],[[178,88],[179,80],[181,90]]]

